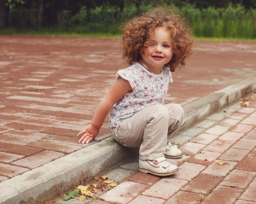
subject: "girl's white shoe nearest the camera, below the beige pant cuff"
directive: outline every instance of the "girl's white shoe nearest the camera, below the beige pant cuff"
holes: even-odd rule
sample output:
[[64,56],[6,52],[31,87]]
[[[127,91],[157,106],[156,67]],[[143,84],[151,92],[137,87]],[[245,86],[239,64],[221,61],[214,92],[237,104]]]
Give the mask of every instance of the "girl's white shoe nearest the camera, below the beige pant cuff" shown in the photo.
[[166,161],[164,156],[155,160],[139,159],[139,172],[151,173],[156,176],[169,176],[179,171],[179,168]]

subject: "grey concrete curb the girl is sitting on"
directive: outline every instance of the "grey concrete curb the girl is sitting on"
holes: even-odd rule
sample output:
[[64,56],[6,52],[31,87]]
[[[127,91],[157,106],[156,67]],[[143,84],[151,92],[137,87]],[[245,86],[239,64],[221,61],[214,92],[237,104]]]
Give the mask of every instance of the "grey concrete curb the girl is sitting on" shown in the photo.
[[[185,117],[179,130],[188,128],[254,90],[255,76],[184,105]],[[1,182],[0,203],[45,203],[134,155],[138,155],[138,148],[126,148],[112,137],[106,138]]]

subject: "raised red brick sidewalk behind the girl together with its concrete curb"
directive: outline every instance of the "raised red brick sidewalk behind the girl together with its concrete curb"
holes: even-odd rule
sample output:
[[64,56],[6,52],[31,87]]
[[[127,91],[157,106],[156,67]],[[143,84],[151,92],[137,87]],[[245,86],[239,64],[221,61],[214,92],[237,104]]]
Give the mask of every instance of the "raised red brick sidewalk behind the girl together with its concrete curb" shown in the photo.
[[[75,137],[127,67],[119,40],[0,36],[0,45],[0,203],[44,202],[138,154],[113,141],[107,119],[97,141]],[[181,129],[255,89],[255,50],[198,42],[165,100],[183,105]]]

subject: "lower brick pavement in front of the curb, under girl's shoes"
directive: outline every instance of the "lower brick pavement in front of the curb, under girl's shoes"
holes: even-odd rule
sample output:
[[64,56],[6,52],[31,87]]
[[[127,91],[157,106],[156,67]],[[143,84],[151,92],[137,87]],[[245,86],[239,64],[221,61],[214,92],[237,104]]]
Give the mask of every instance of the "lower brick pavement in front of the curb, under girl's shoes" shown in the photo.
[[[117,187],[84,203],[256,203],[256,94],[251,99],[250,107],[235,103],[187,130],[191,139],[180,146],[184,155],[167,159],[179,165],[179,172],[167,177],[144,174],[137,171],[134,160],[102,175],[117,182]],[[181,131],[178,136],[184,134]],[[82,202],[57,199],[54,203]]]

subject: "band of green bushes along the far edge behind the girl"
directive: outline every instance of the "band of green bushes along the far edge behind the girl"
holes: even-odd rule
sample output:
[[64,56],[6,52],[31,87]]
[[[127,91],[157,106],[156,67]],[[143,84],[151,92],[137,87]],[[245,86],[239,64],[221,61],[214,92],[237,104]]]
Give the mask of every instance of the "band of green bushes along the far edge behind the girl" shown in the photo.
[[[148,11],[153,5],[142,4],[137,7],[133,1],[126,1],[124,7],[119,8],[109,3],[87,8],[81,6],[79,12],[72,14],[71,10],[57,12],[57,26],[42,27],[44,32],[68,33],[108,33],[119,34],[119,25],[125,20]],[[226,8],[196,8],[193,6],[175,7],[172,10],[180,12],[187,18],[197,37],[232,37],[256,39],[256,9],[246,10],[242,5]],[[0,13],[0,27],[5,26],[4,14]],[[44,19],[44,18],[43,18]],[[38,28],[38,10],[13,8],[8,16],[10,28]],[[3,32],[3,31],[2,31]]]

